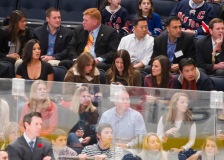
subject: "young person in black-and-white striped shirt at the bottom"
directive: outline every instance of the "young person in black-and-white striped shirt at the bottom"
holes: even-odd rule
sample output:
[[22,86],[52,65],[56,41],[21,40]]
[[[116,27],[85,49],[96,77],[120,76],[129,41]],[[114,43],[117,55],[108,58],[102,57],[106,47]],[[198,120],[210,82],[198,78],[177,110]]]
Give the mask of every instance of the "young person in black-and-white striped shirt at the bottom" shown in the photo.
[[95,159],[120,160],[123,157],[123,150],[120,147],[113,146],[113,129],[110,124],[101,123],[96,127],[98,143],[86,146],[82,150],[79,158],[85,160],[86,157],[95,157]]

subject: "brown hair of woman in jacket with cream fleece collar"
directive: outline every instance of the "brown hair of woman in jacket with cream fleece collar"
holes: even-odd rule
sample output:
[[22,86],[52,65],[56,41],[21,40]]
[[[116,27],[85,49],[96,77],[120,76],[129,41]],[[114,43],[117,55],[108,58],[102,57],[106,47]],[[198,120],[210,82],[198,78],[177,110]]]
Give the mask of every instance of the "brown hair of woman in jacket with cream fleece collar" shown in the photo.
[[84,68],[85,68],[85,66],[87,66],[90,63],[91,60],[93,60],[93,68],[92,68],[91,72],[89,73],[89,76],[93,77],[95,67],[96,67],[94,57],[89,52],[83,52],[77,58],[76,69],[77,69],[78,73],[80,74],[81,78],[84,78],[86,76],[86,73],[84,72]]

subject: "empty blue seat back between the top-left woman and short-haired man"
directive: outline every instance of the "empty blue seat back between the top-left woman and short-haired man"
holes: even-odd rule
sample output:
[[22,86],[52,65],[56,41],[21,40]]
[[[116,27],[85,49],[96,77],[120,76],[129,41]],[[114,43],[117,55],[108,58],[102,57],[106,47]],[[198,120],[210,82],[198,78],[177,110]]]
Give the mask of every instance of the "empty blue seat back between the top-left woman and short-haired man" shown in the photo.
[[27,21],[45,21],[45,11],[49,7],[57,8],[58,0],[19,0],[18,1],[18,10],[22,10],[26,13]]

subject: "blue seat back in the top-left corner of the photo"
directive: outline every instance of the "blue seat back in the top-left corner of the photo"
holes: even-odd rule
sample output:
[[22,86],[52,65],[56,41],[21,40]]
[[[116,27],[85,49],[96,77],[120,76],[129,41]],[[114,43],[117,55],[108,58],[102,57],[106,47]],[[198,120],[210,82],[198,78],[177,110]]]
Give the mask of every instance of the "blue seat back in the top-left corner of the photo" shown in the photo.
[[0,0],[0,20],[4,20],[16,9],[17,0]]

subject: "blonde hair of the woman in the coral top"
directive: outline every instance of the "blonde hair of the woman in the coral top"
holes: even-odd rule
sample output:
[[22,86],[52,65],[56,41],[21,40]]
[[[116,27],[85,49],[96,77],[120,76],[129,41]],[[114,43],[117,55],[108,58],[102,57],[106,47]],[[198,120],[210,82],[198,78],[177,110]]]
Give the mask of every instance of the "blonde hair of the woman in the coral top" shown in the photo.
[[[39,84],[43,84],[47,88],[47,84],[43,80],[36,80],[35,82],[33,82],[30,89],[30,98],[29,98],[29,108],[31,111],[36,111],[37,109],[38,99],[36,98],[36,93],[37,93],[37,88]],[[49,95],[47,94],[46,98],[43,101],[43,105],[41,109],[43,110],[47,109],[50,105],[50,102],[51,101],[50,101]]]

